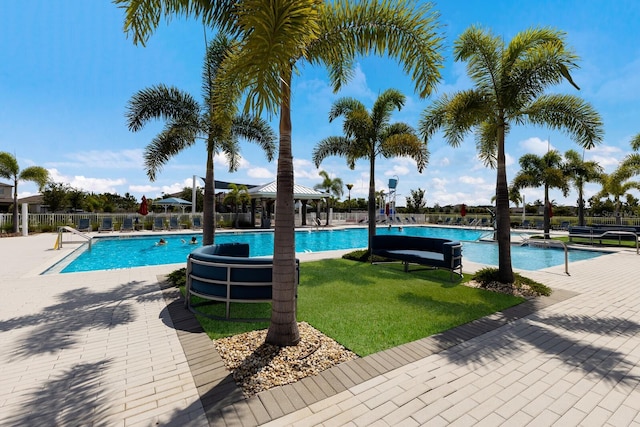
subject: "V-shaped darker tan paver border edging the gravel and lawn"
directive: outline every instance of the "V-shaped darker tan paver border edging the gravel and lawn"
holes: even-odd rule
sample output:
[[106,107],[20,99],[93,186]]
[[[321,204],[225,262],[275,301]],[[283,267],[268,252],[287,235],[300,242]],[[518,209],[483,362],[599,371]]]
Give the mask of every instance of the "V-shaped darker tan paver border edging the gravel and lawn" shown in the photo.
[[211,425],[238,421],[259,425],[335,396],[378,375],[447,350],[472,338],[529,316],[579,293],[554,290],[549,297],[527,299],[501,312],[457,326],[445,332],[344,362],[316,376],[275,387],[246,398],[195,315],[184,308],[180,290],[158,276],[167,310],[178,334],[200,401]]

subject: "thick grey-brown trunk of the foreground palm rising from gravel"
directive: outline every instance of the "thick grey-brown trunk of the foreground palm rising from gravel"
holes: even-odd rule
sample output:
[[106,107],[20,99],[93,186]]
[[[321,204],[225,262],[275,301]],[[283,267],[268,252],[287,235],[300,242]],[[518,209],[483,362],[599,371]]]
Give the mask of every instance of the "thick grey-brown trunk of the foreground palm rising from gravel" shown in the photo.
[[297,345],[295,213],[293,204],[293,155],[291,152],[291,70],[282,78],[280,144],[278,149],[276,226],[273,248],[271,323],[266,342]]

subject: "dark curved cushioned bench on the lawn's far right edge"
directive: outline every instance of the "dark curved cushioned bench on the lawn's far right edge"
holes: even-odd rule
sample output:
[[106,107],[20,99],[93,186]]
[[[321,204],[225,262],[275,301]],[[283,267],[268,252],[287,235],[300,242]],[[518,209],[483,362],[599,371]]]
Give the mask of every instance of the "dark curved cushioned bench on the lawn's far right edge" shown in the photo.
[[402,261],[404,271],[409,264],[444,268],[462,276],[462,245],[456,240],[431,237],[380,235],[371,241],[373,255]]

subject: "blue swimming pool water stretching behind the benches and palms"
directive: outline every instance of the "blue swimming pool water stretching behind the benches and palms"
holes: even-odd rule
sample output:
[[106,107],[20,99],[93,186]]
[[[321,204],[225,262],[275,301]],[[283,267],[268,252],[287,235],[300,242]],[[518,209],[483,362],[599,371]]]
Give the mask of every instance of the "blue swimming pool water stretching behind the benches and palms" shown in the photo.
[[[487,231],[443,227],[405,227],[402,230],[379,228],[377,234],[401,234],[460,240],[463,243],[464,259],[487,265],[498,265],[497,245],[478,242],[483,235],[487,235]],[[90,251],[84,250],[84,247],[79,249],[81,251],[79,255],[72,254],[68,260],[63,260],[57,269],[62,273],[71,273],[181,263],[186,261],[193,249],[199,247],[199,245],[188,244],[192,236],[196,236],[198,240],[202,237],[200,234],[163,235],[162,237],[167,241],[164,246],[156,245],[160,235],[96,238]],[[182,243],[182,240],[187,243]],[[271,231],[217,233],[215,241],[216,243],[248,243],[251,248],[251,256],[265,256],[273,253],[273,232]],[[366,248],[366,246],[366,228],[296,232],[296,252],[298,253],[357,249]],[[572,250],[569,252],[569,261],[589,259],[602,254],[603,252]],[[564,264],[564,251],[512,246],[511,258],[515,268],[539,270]]]

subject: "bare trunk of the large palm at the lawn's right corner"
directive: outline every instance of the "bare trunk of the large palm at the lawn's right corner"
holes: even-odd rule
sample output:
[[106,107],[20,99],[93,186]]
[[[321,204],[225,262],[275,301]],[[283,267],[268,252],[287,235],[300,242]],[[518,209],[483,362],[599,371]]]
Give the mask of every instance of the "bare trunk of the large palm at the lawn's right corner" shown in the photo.
[[498,277],[502,283],[513,283],[511,267],[511,218],[509,188],[504,154],[504,121],[498,125],[498,175],[496,178],[496,222],[498,240]]

